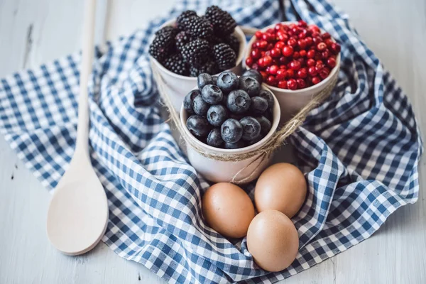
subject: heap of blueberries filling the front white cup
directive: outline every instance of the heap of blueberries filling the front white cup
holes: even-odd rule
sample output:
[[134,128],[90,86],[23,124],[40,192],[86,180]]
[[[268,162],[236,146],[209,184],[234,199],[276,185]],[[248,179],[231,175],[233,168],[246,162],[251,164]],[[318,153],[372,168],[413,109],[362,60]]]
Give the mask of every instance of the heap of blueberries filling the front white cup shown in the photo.
[[247,70],[241,77],[225,71],[202,73],[198,88],[183,102],[190,132],[216,148],[236,149],[261,141],[271,130],[273,95],[261,88],[262,75]]

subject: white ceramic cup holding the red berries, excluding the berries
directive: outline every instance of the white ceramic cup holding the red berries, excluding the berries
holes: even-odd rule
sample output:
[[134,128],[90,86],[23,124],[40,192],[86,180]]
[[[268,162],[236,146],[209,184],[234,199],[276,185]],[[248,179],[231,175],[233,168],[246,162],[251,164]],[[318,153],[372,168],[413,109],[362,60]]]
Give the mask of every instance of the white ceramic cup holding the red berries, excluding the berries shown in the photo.
[[[284,24],[290,24],[290,23],[297,23],[297,22],[283,22]],[[263,28],[261,31],[266,31],[268,28],[273,28],[275,26],[275,23],[271,26],[267,26],[266,28]],[[321,30],[322,33],[325,31]],[[249,40],[249,43],[247,44],[246,54],[244,56],[244,65],[246,62],[246,58],[249,57],[251,53],[251,45],[256,40],[256,35],[253,35],[253,37]],[[336,58],[336,66],[330,71],[330,74],[325,80],[322,80],[320,83],[315,84],[313,86],[307,87],[305,89],[295,89],[294,91],[291,89],[280,89],[278,87],[270,86],[266,83],[266,86],[271,89],[273,94],[278,99],[278,102],[280,102],[281,107],[281,122],[285,122],[290,120],[290,118],[297,114],[300,109],[305,107],[305,105],[310,102],[312,97],[315,96],[315,94],[319,94],[325,87],[327,87],[328,84],[330,84],[338,75],[339,75],[339,68],[340,68],[340,53],[337,55]]]

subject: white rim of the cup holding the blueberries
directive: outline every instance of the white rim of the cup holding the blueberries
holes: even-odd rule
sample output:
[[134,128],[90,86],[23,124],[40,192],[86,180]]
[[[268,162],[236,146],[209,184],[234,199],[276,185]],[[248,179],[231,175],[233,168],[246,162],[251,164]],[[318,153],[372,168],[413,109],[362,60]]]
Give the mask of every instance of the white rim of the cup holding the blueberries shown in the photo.
[[[266,87],[264,85],[262,85],[262,89],[266,89],[269,92],[271,92],[271,89],[269,89],[268,87]],[[272,125],[271,125],[271,130],[260,141],[254,143],[253,145],[250,145],[250,146],[246,146],[246,147],[243,147],[243,148],[237,148],[237,149],[223,149],[223,148],[216,148],[216,147],[213,147],[213,146],[209,146],[205,143],[202,143],[200,140],[195,138],[195,136],[191,133],[191,131],[189,129],[187,129],[186,121],[183,120],[183,116],[184,116],[184,114],[187,115],[187,111],[183,108],[183,103],[182,103],[182,106],[180,107],[180,124],[183,126],[184,131],[187,134],[189,134],[192,141],[195,141],[195,143],[197,143],[198,146],[205,148],[209,151],[215,151],[215,152],[224,153],[224,154],[230,154],[230,153],[241,154],[241,153],[246,153],[248,151],[253,151],[253,150],[256,150],[257,148],[259,148],[260,146],[262,146],[263,143],[266,142],[266,140],[271,138],[273,133],[275,133],[275,131],[278,129],[278,124],[280,124],[280,117],[281,117],[280,104],[278,102],[278,99],[275,97],[275,94],[273,92],[271,92],[271,94],[273,96],[273,102],[274,102],[273,103],[273,122],[272,122]]]

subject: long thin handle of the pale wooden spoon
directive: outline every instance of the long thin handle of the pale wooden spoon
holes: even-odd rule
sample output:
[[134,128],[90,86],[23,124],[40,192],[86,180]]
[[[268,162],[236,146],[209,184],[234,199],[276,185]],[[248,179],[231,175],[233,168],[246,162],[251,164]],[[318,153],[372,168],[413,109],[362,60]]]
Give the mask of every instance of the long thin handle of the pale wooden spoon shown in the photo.
[[84,9],[82,61],[80,65],[80,96],[78,97],[75,153],[84,154],[84,158],[89,158],[89,96],[87,85],[89,76],[92,74],[96,0],[86,0],[84,3],[86,6]]

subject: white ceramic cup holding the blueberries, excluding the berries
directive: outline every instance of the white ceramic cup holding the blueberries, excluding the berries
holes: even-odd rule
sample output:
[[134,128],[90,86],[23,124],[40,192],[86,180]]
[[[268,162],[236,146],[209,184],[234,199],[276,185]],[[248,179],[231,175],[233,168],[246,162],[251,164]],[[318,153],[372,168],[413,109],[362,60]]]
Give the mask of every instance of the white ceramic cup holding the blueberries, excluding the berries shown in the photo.
[[[263,86],[263,89],[268,89]],[[184,129],[187,137],[191,139],[193,143],[202,148],[206,153],[212,153],[217,155],[230,155],[230,154],[243,154],[250,151],[256,150],[263,146],[268,139],[273,136],[273,133],[278,128],[280,121],[280,104],[278,104],[277,98],[274,96],[274,107],[273,107],[273,121],[271,130],[266,134],[265,137],[258,143],[251,146],[247,146],[239,149],[222,149],[209,146],[202,143],[200,140],[190,133],[186,126],[186,120],[188,117],[187,111],[182,107],[180,108],[180,124]],[[185,136],[184,136],[185,137]],[[185,138],[186,139],[186,138]],[[259,175],[265,170],[265,168],[271,163],[273,155],[269,155],[264,159],[258,158],[262,153],[254,155],[246,160],[239,161],[220,161],[212,158],[204,157],[204,155],[198,153],[195,148],[192,148],[190,143],[187,143],[187,157],[190,160],[191,165],[207,180],[212,182],[231,182],[234,183],[246,183],[251,182],[258,178]],[[257,159],[257,160],[256,160]],[[241,182],[244,181],[244,182]]]

